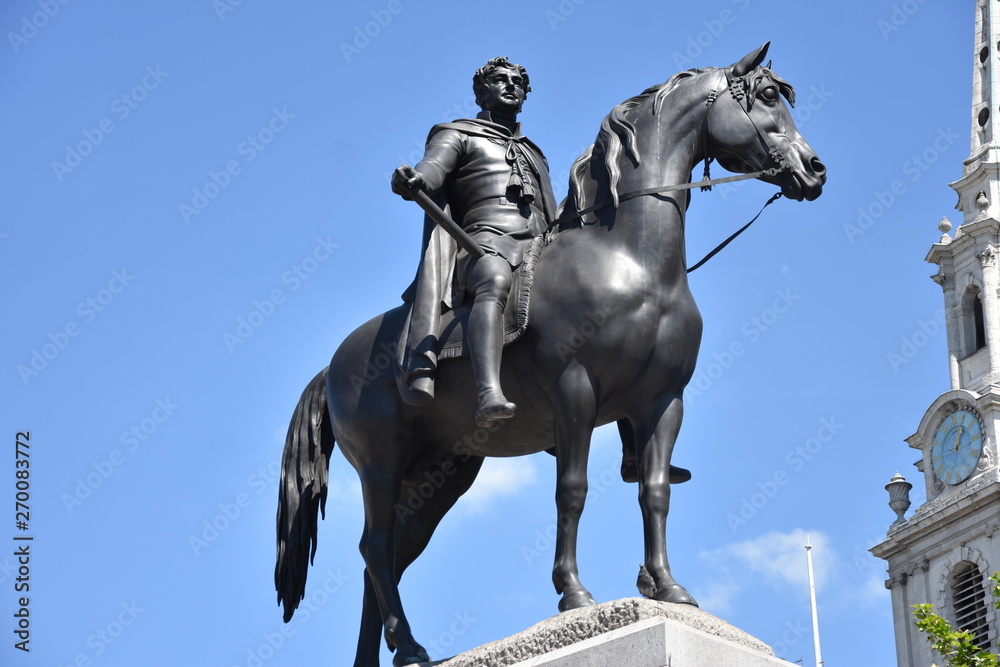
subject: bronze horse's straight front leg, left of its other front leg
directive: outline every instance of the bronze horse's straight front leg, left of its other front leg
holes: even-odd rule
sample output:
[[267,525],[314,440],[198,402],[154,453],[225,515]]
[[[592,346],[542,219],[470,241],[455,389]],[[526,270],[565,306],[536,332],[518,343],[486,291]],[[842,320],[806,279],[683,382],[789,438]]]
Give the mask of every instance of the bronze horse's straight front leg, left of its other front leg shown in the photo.
[[559,611],[597,604],[583,584],[577,566],[576,544],[580,515],[587,500],[587,460],[597,418],[590,377],[575,365],[560,378],[554,405],[556,438],[556,555],[552,583],[562,594]]

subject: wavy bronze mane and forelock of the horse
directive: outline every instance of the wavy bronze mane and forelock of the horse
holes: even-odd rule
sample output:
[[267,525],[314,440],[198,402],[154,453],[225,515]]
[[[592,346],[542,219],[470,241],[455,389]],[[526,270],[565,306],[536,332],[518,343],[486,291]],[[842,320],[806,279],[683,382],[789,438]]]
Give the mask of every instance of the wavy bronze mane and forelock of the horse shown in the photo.
[[[770,63],[768,63],[770,64]],[[634,110],[652,98],[652,113],[659,112],[666,97],[677,88],[681,81],[690,77],[698,76],[709,71],[717,71],[717,68],[707,67],[691,69],[678,72],[663,83],[651,86],[635,97],[630,97],[614,109],[611,110],[604,120],[601,121],[601,129],[597,133],[594,143],[578,157],[570,168],[569,174],[569,195],[568,202],[572,202],[577,211],[581,211],[592,202],[587,201],[584,190],[584,179],[590,173],[591,165],[595,158],[601,159],[601,164],[608,177],[608,191],[611,195],[612,205],[618,207],[618,181],[621,178],[621,169],[618,166],[618,159],[624,149],[626,157],[636,167],[641,162],[639,151],[635,142],[635,126],[629,121]],[[758,66],[747,73],[743,80],[743,90],[741,91],[747,98],[748,104],[752,105],[760,84],[771,79],[778,86],[778,90],[788,100],[788,103],[795,106],[795,90],[791,84],[779,77],[767,67]],[[749,109],[749,107],[748,107]]]

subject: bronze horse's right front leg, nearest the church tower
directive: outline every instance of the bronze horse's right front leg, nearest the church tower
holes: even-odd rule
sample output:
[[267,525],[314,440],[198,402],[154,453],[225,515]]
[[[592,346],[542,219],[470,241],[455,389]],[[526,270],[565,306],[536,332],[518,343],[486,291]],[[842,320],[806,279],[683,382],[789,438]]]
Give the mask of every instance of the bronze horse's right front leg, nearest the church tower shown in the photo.
[[679,602],[697,607],[698,603],[694,598],[674,581],[667,559],[670,457],[683,417],[684,403],[681,397],[668,396],[654,406],[644,423],[635,425],[638,436],[639,506],[642,509],[645,566],[649,574],[646,583],[640,587],[640,592],[662,602]]

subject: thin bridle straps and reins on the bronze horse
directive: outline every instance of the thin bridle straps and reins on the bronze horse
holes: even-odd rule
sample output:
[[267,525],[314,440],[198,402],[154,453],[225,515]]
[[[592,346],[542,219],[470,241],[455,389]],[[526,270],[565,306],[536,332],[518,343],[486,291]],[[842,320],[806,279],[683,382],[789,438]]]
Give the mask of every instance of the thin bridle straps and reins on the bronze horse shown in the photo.
[[[705,132],[705,141],[703,142],[704,145],[705,145],[705,152],[706,152],[705,158],[704,158],[704,162],[705,162],[705,173],[704,173],[704,176],[705,177],[702,180],[700,180],[700,181],[698,181],[696,183],[680,183],[680,184],[676,184],[676,185],[660,185],[660,186],[655,186],[655,187],[652,187],[652,188],[643,188],[641,190],[632,190],[630,192],[626,192],[624,194],[618,195],[618,201],[619,202],[623,202],[623,201],[628,201],[629,199],[636,199],[638,197],[645,197],[645,196],[648,196],[648,195],[662,194],[664,192],[670,192],[670,191],[674,191],[674,190],[690,190],[692,188],[701,188],[702,191],[707,191],[707,190],[711,190],[712,186],[714,186],[714,185],[720,185],[722,183],[733,183],[733,182],[736,182],[736,181],[745,181],[745,180],[749,180],[749,179],[752,179],[752,178],[760,178],[761,176],[777,176],[778,174],[780,174],[782,172],[791,171],[791,169],[792,169],[792,163],[791,163],[791,161],[789,161],[785,157],[784,153],[781,152],[780,148],[778,148],[777,146],[775,146],[768,139],[768,137],[767,137],[766,134],[764,134],[763,132],[760,131],[760,128],[757,127],[757,123],[755,123],[754,120],[753,120],[753,116],[750,115],[750,100],[749,100],[749,96],[746,94],[746,89],[747,89],[746,78],[747,78],[746,75],[733,76],[732,69],[731,68],[727,69],[726,70],[726,87],[723,88],[722,90],[726,90],[726,89],[729,90],[730,96],[733,98],[733,100],[736,102],[736,104],[740,107],[740,109],[743,110],[743,113],[746,115],[747,119],[750,121],[750,124],[753,125],[754,131],[757,132],[757,137],[764,144],[764,147],[767,148],[768,157],[770,157],[771,160],[773,160],[774,163],[777,164],[778,166],[776,166],[776,167],[769,167],[767,169],[761,169],[759,171],[754,171],[754,172],[747,173],[747,174],[738,174],[736,176],[726,176],[726,177],[723,177],[723,178],[711,178],[711,175],[709,173],[709,165],[712,163],[713,158],[708,155],[708,141],[709,141],[710,135],[709,135],[709,129],[708,129],[709,113],[708,113],[708,111],[706,111],[706,113],[705,113],[705,126],[704,126],[705,127],[705,129],[704,129],[704,132]],[[720,92],[721,91],[718,90],[718,89],[713,89],[711,92],[709,92],[708,97],[707,97],[706,102],[705,102],[706,107],[711,107],[715,103],[715,101],[718,99],[718,96],[719,96]],[[692,266],[691,268],[689,268],[687,270],[687,272],[691,273],[692,271],[694,271],[695,269],[697,269],[698,267],[700,267],[702,264],[704,264],[705,262],[707,262],[708,260],[710,260],[712,257],[714,257],[716,254],[718,254],[723,248],[725,248],[727,245],[729,245],[737,236],[739,236],[740,234],[742,234],[743,232],[745,232],[750,227],[750,225],[752,225],[757,220],[757,218],[760,217],[760,214],[764,212],[765,208],[767,208],[768,206],[770,206],[772,203],[774,203],[775,201],[777,201],[780,198],[781,198],[781,192],[780,191],[777,192],[777,193],[775,193],[774,195],[772,195],[771,198],[767,200],[767,203],[765,203],[764,206],[761,207],[760,211],[757,212],[757,215],[755,215],[753,217],[753,219],[750,220],[750,222],[748,222],[747,224],[743,225],[735,233],[733,233],[732,235],[730,235],[729,238],[727,238],[725,241],[723,241],[718,246],[716,246],[715,249],[712,250],[712,252],[708,253],[704,258],[701,259],[701,261],[699,261],[697,264],[695,264],[694,266]],[[563,225],[563,224],[565,224],[567,222],[572,222],[574,220],[580,220],[581,224],[583,224],[583,217],[584,216],[589,215],[591,213],[594,213],[596,211],[600,211],[602,209],[608,208],[609,206],[612,206],[613,203],[614,202],[612,200],[607,200],[607,201],[603,201],[603,202],[601,202],[599,204],[594,204],[593,206],[588,206],[587,208],[585,208],[585,209],[583,209],[581,211],[577,211],[576,213],[573,213],[572,215],[560,216],[560,217],[558,217],[558,218],[556,218],[555,220],[552,221],[552,223],[549,225],[549,228],[552,229],[552,228],[556,227],[557,225],[561,226],[561,225]]]

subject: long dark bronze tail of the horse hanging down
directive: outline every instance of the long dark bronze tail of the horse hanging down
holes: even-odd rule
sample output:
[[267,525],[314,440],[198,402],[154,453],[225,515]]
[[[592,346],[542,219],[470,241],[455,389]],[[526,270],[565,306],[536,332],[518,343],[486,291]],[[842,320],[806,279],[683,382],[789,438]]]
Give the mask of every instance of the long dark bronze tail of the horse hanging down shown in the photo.
[[[278,486],[278,557],[274,585],[288,623],[305,597],[306,572],[316,557],[317,514],[326,517],[334,436],[326,409],[324,368],[306,386],[285,436]],[[317,512],[319,510],[319,512]]]

